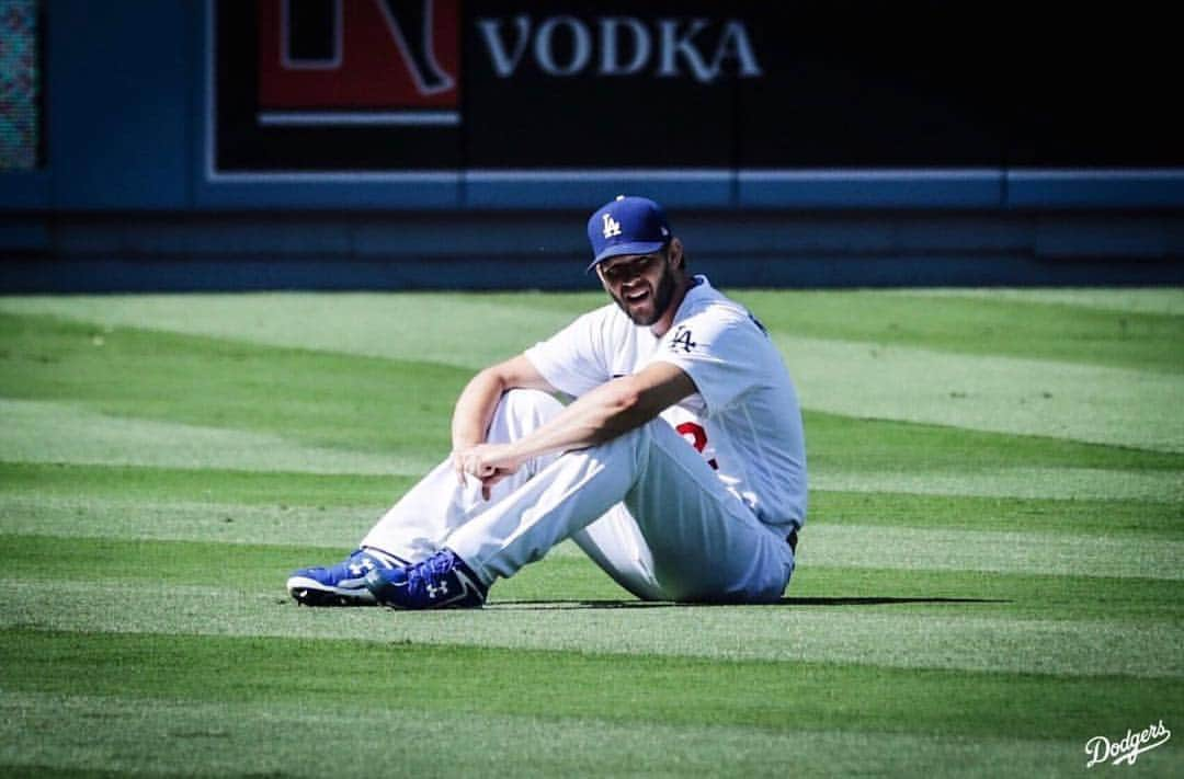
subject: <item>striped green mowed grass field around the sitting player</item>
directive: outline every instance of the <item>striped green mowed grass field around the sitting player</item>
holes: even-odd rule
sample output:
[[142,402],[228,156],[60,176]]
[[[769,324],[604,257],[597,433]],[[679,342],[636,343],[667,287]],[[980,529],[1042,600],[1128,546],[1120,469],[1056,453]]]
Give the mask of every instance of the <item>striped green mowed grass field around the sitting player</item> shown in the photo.
[[1184,290],[734,296],[805,407],[784,603],[564,545],[443,613],[283,584],[598,295],[0,298],[0,774],[1184,775]]

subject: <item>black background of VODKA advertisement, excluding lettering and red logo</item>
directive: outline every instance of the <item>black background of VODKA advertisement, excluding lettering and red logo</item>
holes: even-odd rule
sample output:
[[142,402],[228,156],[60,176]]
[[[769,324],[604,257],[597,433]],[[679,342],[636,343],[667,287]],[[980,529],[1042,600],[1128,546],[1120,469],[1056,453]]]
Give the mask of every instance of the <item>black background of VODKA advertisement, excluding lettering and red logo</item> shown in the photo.
[[[311,0],[316,2],[318,0]],[[323,0],[321,0],[323,1]],[[567,17],[591,60],[546,73],[527,45],[500,77],[475,24],[496,19],[507,49]],[[530,2],[463,4],[461,128],[260,128],[255,123],[257,11],[217,7],[219,163],[226,169],[387,168],[1113,168],[1184,165],[1172,25],[1152,4]],[[651,53],[636,75],[600,76],[599,20],[641,20]],[[710,59],[722,20],[745,25],[762,70],[735,58],[710,83],[655,76],[659,20]],[[618,36],[619,62],[636,51]],[[570,25],[547,39],[573,62]],[[684,58],[676,64],[688,70]]]

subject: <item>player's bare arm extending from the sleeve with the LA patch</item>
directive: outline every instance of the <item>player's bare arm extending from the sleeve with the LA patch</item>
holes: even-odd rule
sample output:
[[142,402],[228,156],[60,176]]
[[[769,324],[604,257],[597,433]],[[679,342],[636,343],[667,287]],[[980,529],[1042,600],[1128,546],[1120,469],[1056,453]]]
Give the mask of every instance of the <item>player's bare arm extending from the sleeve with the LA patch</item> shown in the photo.
[[612,440],[694,392],[695,382],[682,368],[654,362],[636,375],[613,379],[581,395],[526,438],[457,450],[458,470],[480,478],[488,495],[490,487],[527,459]]

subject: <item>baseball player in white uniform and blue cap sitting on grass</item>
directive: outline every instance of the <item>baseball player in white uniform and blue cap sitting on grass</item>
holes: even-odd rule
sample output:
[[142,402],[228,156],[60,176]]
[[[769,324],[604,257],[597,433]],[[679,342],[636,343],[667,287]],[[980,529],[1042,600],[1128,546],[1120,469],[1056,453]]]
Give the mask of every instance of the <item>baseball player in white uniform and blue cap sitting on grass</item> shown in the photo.
[[613,303],[469,381],[451,457],[347,560],[292,573],[298,603],[481,606],[565,539],[645,600],[780,599],[806,461],[777,348],[688,273],[656,202],[618,197],[587,230]]

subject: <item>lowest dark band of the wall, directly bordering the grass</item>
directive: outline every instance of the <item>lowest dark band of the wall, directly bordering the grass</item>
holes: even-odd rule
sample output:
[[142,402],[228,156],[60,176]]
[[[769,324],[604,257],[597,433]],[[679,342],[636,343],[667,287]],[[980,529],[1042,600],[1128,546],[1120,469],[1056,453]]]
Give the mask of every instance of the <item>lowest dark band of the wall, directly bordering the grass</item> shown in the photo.
[[[249,290],[596,290],[583,257],[540,260],[342,260],[337,258],[135,258],[0,262],[2,294]],[[1180,285],[1172,260],[1047,260],[986,256],[826,256],[728,258],[691,265],[721,288]]]

